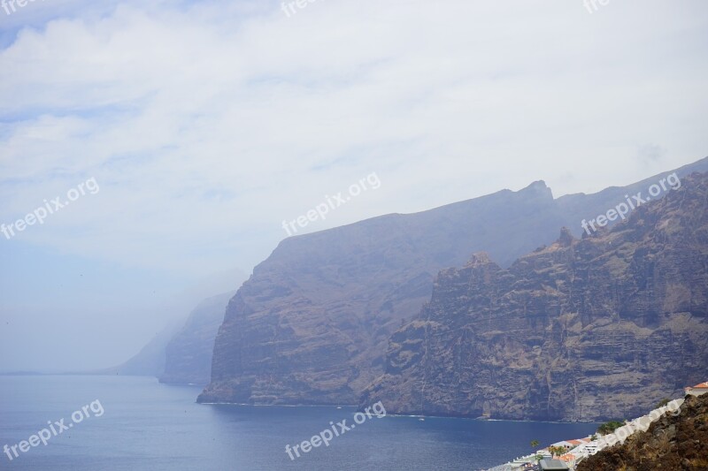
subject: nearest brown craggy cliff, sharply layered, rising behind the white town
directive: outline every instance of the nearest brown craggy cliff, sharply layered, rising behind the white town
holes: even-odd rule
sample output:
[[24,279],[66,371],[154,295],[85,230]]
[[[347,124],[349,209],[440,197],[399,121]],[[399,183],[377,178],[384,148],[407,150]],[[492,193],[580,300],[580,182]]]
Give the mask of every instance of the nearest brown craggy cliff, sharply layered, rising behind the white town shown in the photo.
[[361,404],[389,413],[598,421],[708,376],[708,174],[591,237],[504,269],[475,254],[389,343]]

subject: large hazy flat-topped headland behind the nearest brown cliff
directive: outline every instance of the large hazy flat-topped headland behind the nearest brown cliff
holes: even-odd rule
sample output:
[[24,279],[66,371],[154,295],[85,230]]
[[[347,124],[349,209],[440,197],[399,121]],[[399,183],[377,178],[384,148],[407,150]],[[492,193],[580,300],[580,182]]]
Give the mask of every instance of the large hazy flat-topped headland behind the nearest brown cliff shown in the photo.
[[[708,170],[708,159],[679,175],[696,168]],[[583,217],[604,213],[623,191],[554,200],[536,182],[286,239],[229,302],[212,382],[198,400],[356,404],[384,371],[390,335],[418,314],[439,270],[480,250],[506,267],[552,242],[562,225],[579,234]]]

